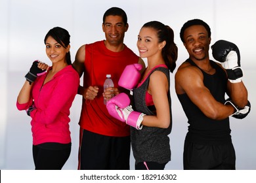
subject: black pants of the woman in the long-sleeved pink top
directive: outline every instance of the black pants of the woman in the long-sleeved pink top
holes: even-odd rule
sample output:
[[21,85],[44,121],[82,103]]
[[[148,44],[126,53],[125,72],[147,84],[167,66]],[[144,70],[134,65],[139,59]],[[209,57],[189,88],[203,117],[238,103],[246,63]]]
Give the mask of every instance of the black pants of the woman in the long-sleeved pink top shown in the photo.
[[[51,143],[51,147],[53,144]],[[47,146],[48,147],[48,146]],[[33,161],[35,163],[35,170],[61,170],[68,158],[70,157],[71,144],[66,148],[58,148],[54,150],[41,146],[33,146]]]

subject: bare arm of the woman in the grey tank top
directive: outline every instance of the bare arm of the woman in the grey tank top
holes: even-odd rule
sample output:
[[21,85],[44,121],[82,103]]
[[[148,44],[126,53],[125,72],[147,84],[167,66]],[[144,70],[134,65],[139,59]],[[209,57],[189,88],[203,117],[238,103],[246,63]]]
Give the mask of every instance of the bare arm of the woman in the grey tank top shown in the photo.
[[150,76],[148,90],[156,107],[156,116],[144,116],[142,124],[150,127],[167,128],[170,125],[170,112],[167,92],[168,80],[164,73],[155,71]]

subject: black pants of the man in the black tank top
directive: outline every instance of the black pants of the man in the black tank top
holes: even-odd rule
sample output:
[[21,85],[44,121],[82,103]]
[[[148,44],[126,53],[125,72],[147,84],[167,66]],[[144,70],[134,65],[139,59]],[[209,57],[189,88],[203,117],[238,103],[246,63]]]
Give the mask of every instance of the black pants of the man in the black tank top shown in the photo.
[[205,145],[185,141],[184,170],[234,170],[236,154],[232,142]]

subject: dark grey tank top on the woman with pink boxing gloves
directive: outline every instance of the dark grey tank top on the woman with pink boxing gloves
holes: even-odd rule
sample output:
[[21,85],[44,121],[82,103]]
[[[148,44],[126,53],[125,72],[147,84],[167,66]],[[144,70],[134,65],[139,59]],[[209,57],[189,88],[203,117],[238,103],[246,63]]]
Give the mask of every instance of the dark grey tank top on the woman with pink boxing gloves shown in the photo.
[[[133,109],[138,112],[143,112],[146,115],[155,115],[154,106],[146,106],[146,90],[150,81],[150,75],[154,71],[161,71],[165,73],[170,86],[169,70],[165,67],[156,67],[147,76],[146,80],[141,86],[133,90],[134,101]],[[169,110],[171,114],[171,95],[170,91],[167,92],[169,100]],[[154,161],[157,163],[167,163],[171,160],[171,148],[169,142],[169,133],[171,133],[172,120],[170,118],[170,125],[167,129],[159,127],[146,127],[144,126],[141,130],[137,130],[131,127],[131,146],[133,148],[133,156],[136,162]]]

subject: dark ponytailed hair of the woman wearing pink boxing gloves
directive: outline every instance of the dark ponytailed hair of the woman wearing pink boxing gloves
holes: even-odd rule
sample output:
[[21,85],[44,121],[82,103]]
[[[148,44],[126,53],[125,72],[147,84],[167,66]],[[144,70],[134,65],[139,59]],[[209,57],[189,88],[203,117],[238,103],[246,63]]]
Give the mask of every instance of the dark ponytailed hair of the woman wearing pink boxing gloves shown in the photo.
[[174,32],[171,27],[158,21],[152,21],[144,24],[142,27],[151,27],[157,31],[158,42],[165,41],[166,44],[161,51],[161,55],[168,69],[173,73],[178,58],[178,47],[174,42]]

